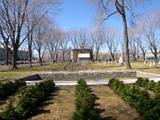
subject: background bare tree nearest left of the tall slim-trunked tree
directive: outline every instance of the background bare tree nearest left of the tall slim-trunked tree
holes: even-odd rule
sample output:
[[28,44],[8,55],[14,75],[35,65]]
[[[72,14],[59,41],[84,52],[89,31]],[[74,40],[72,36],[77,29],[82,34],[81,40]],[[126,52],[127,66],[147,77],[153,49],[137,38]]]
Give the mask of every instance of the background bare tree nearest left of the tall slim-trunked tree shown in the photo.
[[115,55],[118,50],[119,39],[117,37],[117,31],[112,29],[106,30],[105,41],[109,50],[109,53],[112,57],[112,61],[115,61]]

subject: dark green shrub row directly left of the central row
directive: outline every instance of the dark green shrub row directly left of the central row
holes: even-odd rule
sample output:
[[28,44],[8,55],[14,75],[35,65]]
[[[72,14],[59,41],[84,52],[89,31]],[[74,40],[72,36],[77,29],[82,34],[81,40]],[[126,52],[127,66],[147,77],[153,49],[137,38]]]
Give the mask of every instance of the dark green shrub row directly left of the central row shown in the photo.
[[16,96],[15,105],[9,104],[2,112],[2,120],[25,120],[30,117],[54,90],[54,82],[47,80],[35,86],[24,87]]

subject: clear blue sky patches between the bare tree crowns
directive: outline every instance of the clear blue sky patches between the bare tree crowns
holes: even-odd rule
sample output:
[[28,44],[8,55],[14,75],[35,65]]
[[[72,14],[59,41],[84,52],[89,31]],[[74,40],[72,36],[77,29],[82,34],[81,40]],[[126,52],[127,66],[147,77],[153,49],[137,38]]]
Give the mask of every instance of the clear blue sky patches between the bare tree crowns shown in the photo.
[[[138,13],[160,9],[160,0],[150,0],[138,9]],[[73,28],[88,28],[94,26],[96,11],[87,0],[62,0],[60,12],[56,16],[59,26],[68,31]],[[122,29],[121,17],[113,16],[106,22],[106,27]]]

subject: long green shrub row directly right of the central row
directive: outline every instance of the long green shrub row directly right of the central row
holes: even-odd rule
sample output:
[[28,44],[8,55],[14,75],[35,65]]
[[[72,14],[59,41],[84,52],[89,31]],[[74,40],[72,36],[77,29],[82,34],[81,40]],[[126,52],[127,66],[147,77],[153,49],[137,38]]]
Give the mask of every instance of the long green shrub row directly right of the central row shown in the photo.
[[122,99],[133,106],[142,115],[144,120],[159,120],[160,96],[152,100],[149,98],[147,91],[142,91],[136,86],[124,85],[123,82],[118,79],[111,79],[109,86],[119,94]]

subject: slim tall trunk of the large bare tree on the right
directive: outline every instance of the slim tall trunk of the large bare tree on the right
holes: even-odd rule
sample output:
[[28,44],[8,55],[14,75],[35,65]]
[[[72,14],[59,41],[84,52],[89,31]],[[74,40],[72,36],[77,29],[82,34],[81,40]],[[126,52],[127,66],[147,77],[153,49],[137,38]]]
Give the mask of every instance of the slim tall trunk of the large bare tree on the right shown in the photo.
[[130,65],[130,56],[129,56],[129,39],[128,39],[128,30],[127,30],[127,20],[125,13],[122,15],[123,27],[124,27],[124,46],[125,46],[125,63],[126,68],[131,69]]

